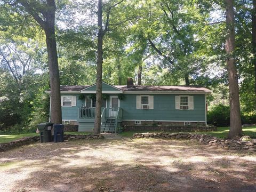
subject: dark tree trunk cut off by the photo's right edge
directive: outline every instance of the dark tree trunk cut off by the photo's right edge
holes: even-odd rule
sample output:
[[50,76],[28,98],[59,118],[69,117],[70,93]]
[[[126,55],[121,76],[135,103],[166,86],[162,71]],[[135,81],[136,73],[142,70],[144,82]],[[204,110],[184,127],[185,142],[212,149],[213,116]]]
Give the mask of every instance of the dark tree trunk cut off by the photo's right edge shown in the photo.
[[256,98],[256,0],[253,0],[252,3],[252,64],[254,66],[254,93]]

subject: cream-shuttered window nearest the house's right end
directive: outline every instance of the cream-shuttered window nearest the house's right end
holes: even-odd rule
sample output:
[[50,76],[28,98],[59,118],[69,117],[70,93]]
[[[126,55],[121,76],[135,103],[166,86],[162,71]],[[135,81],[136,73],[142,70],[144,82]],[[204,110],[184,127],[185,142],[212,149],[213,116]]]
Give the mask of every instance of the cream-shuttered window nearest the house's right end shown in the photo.
[[194,97],[190,95],[176,95],[175,109],[194,110]]

